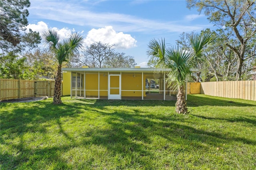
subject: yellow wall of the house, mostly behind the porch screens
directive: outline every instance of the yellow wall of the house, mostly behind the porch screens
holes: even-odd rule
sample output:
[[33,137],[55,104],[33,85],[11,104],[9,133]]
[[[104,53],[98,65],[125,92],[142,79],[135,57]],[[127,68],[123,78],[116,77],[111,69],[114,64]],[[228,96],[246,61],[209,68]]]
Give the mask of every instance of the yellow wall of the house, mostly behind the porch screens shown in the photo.
[[[141,97],[142,92],[136,91],[142,89],[142,74],[138,74],[135,77],[132,73],[122,73],[121,78],[121,95],[124,97]],[[98,96],[98,72],[86,73],[85,75],[86,96]],[[115,82],[116,81],[116,82]],[[143,79],[143,90],[146,89],[145,82],[146,77]],[[71,73],[63,73],[63,95],[70,95],[70,83]],[[113,79],[113,84],[118,84],[118,79]],[[95,90],[95,91],[94,91]],[[108,96],[108,75],[100,73],[100,96]],[[124,91],[131,90],[131,91]],[[144,97],[146,93],[144,92]]]

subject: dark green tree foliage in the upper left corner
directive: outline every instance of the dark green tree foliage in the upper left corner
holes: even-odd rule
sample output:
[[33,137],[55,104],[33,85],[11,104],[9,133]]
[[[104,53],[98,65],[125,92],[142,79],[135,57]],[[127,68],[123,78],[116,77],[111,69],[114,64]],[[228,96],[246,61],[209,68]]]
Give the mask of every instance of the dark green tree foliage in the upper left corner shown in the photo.
[[0,47],[2,53],[20,52],[27,47],[34,48],[40,43],[38,32],[29,30],[27,17],[29,15],[29,0],[0,1]]

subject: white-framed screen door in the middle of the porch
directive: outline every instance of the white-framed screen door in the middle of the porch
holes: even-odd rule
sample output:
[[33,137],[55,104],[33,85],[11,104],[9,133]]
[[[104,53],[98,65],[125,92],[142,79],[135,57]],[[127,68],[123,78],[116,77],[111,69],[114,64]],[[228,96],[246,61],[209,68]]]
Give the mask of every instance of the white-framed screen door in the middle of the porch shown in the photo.
[[120,75],[108,75],[108,99],[121,99]]

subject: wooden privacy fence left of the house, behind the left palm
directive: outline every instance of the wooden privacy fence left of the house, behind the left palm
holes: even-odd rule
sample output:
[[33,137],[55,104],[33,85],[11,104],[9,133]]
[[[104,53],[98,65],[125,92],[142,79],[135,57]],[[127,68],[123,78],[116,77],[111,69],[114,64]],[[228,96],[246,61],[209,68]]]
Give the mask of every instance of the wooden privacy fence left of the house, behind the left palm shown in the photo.
[[55,81],[0,79],[0,101],[25,97],[53,96]]

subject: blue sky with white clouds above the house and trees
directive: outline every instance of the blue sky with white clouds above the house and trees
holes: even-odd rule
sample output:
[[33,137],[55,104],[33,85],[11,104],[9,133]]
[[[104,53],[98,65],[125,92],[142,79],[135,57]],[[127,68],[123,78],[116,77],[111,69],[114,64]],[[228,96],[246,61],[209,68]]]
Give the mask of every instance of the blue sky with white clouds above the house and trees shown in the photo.
[[30,0],[29,25],[34,31],[58,30],[62,38],[72,32],[93,42],[115,44],[116,51],[134,56],[146,67],[147,45],[165,38],[175,45],[182,32],[200,32],[213,25],[204,14],[186,8],[184,0]]

